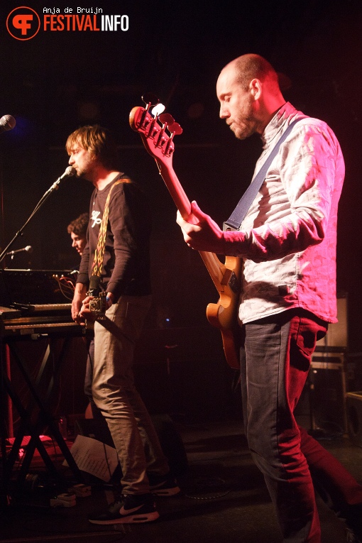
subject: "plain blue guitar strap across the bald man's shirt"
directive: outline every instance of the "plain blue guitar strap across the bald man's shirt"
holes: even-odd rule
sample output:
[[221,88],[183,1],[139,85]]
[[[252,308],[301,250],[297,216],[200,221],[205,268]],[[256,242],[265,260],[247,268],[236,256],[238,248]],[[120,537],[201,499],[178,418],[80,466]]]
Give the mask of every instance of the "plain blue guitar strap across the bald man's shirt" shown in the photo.
[[[302,117],[304,119],[304,117]],[[256,198],[256,194],[258,194],[261,185],[263,185],[263,182],[265,180],[266,172],[268,172],[268,168],[270,164],[273,161],[273,158],[278,153],[278,150],[281,146],[281,144],[285,141],[287,136],[292,131],[293,126],[302,119],[297,119],[296,121],[293,121],[286,129],[286,131],[280,136],[277,143],[275,143],[275,146],[270,151],[268,157],[265,160],[265,163],[262,165],[256,176],[254,177],[251,184],[248,186],[246,191],[243,193],[243,196],[238,202],[238,205],[234,209],[234,211],[229,216],[229,219],[224,222],[223,229],[226,230],[238,230],[241,226],[241,223],[245,219],[246,214],[248,213],[248,209],[250,209],[251,204],[253,203],[254,199]]]

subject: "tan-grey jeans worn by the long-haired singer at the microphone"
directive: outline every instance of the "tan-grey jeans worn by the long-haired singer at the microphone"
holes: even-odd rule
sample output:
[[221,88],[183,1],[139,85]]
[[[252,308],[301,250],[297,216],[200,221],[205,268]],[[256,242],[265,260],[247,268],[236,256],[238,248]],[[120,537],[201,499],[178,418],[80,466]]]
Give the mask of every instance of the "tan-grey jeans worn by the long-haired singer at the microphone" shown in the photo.
[[122,296],[94,323],[92,395],[116,446],[124,494],[148,493],[146,472],[168,473],[168,462],[133,380],[133,351],[150,296]]

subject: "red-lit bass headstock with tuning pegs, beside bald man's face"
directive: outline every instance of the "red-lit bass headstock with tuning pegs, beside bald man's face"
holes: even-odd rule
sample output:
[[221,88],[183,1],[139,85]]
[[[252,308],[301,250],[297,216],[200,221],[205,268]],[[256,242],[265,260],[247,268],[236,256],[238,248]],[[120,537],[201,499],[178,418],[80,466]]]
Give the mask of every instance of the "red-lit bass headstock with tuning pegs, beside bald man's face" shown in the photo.
[[142,99],[146,107],[133,107],[129,114],[129,124],[140,133],[148,153],[158,163],[171,164],[175,150],[173,138],[182,133],[182,128],[172,115],[163,113],[165,106],[160,104],[154,94],[144,94]]

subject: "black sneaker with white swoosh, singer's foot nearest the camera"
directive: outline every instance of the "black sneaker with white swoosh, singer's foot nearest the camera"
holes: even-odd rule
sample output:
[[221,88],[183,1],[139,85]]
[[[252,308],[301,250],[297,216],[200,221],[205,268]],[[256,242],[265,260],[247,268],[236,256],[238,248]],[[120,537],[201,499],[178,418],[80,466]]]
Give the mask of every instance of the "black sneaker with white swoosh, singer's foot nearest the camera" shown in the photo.
[[101,515],[90,515],[92,524],[138,524],[158,519],[152,494],[126,494],[121,501],[109,505],[108,511]]

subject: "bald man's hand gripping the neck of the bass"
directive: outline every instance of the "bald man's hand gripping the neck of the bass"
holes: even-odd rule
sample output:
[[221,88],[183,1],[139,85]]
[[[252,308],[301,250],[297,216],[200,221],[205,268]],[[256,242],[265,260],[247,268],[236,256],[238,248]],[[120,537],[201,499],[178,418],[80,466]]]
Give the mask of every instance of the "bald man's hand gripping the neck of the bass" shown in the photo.
[[201,211],[196,202],[191,202],[190,219],[194,216],[196,224],[182,219],[177,211],[177,224],[181,226],[182,234],[189,247],[197,251],[224,254],[224,233],[211,218]]

